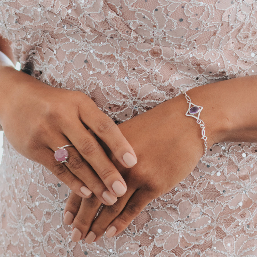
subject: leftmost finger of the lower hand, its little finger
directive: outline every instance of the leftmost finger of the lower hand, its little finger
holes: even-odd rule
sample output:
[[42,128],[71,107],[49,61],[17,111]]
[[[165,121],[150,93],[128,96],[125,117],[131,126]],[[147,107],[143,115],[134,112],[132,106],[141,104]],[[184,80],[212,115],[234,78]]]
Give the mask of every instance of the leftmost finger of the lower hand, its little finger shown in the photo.
[[82,198],[79,195],[71,191],[64,209],[63,222],[65,224],[67,225],[72,224],[74,217],[77,215],[79,211],[81,200]]

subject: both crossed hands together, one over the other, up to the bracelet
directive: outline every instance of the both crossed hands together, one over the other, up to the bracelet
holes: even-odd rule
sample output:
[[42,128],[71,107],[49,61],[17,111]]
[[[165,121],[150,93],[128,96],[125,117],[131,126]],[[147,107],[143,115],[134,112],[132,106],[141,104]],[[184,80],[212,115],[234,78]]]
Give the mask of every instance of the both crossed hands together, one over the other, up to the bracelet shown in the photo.
[[[49,87],[11,67],[0,70],[0,124],[18,152],[71,188],[64,222],[73,223],[75,242],[119,234],[202,155],[200,129],[185,116],[184,96],[117,126],[81,92]],[[68,162],[57,161],[58,147],[71,144]]]

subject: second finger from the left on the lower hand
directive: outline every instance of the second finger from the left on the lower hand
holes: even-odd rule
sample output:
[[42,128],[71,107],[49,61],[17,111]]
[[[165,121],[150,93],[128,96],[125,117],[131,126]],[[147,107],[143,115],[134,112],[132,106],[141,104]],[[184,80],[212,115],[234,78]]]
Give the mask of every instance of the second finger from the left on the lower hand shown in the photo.
[[71,234],[73,242],[78,242],[85,238],[100,206],[101,202],[95,195],[82,199],[79,211],[73,220],[73,231]]

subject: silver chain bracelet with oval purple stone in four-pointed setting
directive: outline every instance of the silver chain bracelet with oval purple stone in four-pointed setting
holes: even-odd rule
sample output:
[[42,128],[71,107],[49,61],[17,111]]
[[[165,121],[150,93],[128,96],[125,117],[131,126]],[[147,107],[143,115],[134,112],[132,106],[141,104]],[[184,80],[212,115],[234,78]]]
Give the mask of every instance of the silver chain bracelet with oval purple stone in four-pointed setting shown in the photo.
[[207,136],[205,135],[205,126],[204,122],[200,119],[200,112],[202,111],[203,107],[199,105],[195,105],[192,103],[190,97],[186,94],[186,91],[182,91],[181,93],[186,97],[187,103],[189,103],[188,110],[186,112],[186,116],[194,117],[196,118],[196,123],[200,125],[200,128],[202,129],[202,138],[204,140],[204,155],[207,153]]

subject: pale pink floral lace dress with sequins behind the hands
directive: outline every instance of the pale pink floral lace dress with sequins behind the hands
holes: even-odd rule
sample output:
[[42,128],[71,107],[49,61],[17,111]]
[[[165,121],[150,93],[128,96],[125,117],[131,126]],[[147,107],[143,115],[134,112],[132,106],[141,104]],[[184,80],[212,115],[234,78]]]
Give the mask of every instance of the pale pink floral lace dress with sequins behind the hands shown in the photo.
[[[82,91],[120,123],[180,89],[257,74],[253,0],[1,0],[23,71]],[[190,149],[189,149],[190,150]],[[69,189],[5,139],[0,256],[257,256],[257,144],[215,144],[125,231],[91,245],[63,224]]]

